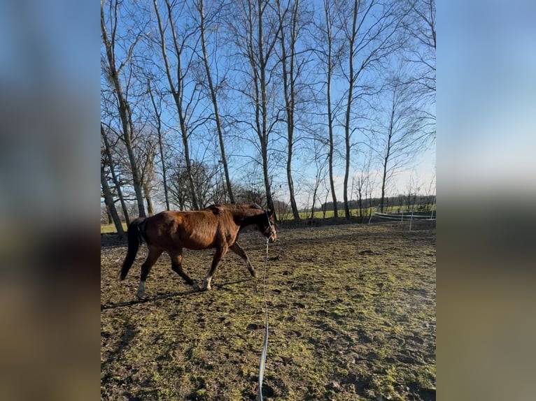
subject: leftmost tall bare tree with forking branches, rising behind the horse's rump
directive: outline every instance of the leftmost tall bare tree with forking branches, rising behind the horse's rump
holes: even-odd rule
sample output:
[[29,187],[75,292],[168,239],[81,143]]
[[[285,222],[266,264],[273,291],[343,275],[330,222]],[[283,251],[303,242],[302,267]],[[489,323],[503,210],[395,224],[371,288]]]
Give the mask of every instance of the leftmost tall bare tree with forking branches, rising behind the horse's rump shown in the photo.
[[122,71],[122,68],[130,61],[136,43],[138,43],[139,39],[141,38],[141,34],[138,34],[135,38],[133,38],[132,43],[127,52],[127,58],[122,61],[119,66],[117,66],[118,61],[115,59],[115,42],[118,25],[118,6],[118,0],[111,0],[110,7],[108,10],[108,18],[111,23],[111,33],[108,36],[108,31],[106,29],[106,17],[104,13],[104,0],[101,0],[101,38],[105,48],[105,56],[101,57],[101,64],[103,66],[103,70],[106,73],[106,78],[113,85],[122,126],[121,138],[122,140],[124,140],[125,147],[127,149],[130,169],[132,171],[132,184],[134,187],[134,192],[136,194],[136,201],[138,205],[138,212],[140,216],[145,217],[146,213],[145,207],[143,205],[141,177],[139,167],[136,163],[136,158],[134,156],[134,143],[132,140],[132,111],[130,109],[130,105],[127,101],[127,98],[123,93],[122,84],[120,82],[120,73]]

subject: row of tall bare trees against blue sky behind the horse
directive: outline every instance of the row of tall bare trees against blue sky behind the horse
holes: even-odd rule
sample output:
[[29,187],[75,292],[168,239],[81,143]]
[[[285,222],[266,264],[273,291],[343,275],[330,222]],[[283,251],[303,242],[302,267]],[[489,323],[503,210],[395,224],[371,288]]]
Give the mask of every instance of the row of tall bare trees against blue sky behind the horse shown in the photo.
[[218,202],[300,219],[297,200],[329,198],[348,218],[434,144],[432,0],[101,0],[101,199],[120,233]]

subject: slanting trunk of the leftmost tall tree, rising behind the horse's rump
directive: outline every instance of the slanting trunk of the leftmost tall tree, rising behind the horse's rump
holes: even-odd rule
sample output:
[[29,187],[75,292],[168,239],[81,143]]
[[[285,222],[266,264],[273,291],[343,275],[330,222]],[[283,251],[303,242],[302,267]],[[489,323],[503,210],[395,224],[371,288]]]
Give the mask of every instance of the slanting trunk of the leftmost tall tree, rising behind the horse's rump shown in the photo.
[[[117,2],[115,3],[115,8],[117,8]],[[113,29],[115,33],[115,28]],[[138,204],[138,212],[140,217],[145,217],[145,207],[143,206],[143,193],[141,189],[141,180],[139,175],[138,164],[136,163],[136,158],[134,157],[134,150],[132,144],[132,131],[131,131],[131,114],[129,105],[123,96],[121,83],[119,81],[119,71],[115,66],[115,50],[112,43],[114,43],[114,38],[108,38],[108,33],[106,31],[106,22],[104,20],[104,4],[101,0],[101,34],[102,40],[104,41],[104,46],[106,47],[106,57],[108,59],[108,68],[110,70],[110,78],[113,81],[113,86],[115,89],[115,96],[117,96],[119,104],[119,116],[121,119],[122,129],[123,129],[123,140],[125,141],[125,147],[127,148],[128,159],[130,163],[130,168],[132,170],[132,185],[134,187],[134,193],[136,194],[136,202]]]

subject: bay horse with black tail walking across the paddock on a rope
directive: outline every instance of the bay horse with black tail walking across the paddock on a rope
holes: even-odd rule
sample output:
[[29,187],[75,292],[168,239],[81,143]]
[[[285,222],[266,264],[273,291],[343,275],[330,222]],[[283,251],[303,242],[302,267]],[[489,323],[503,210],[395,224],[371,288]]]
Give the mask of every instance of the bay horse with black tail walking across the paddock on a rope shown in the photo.
[[183,270],[184,248],[216,249],[211,268],[201,288],[204,291],[211,289],[211,279],[228,249],[244,259],[251,276],[256,277],[246,251],[237,242],[241,230],[247,226],[256,226],[267,238],[267,242],[275,242],[277,239],[274,212],[264,210],[258,205],[216,204],[203,210],[166,211],[150,217],[138,217],[130,223],[127,231],[128,250],[119,279],[124,280],[127,277],[142,240],[147,243],[148,256],[141,265],[137,300],[141,300],[143,296],[150,268],[164,251],[171,258],[171,269],[196,290],[200,289],[197,282]]

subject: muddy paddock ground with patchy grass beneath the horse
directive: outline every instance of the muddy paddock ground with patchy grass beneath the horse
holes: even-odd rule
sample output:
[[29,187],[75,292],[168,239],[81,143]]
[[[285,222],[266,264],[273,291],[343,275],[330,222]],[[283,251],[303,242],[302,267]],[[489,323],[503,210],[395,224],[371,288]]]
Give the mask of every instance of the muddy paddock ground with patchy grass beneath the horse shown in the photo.
[[[142,245],[124,282],[126,244],[101,242],[101,399],[256,400],[265,333],[265,400],[435,400],[435,228],[415,224],[278,228],[239,243],[212,291],[192,291],[166,254],[134,302]],[[185,251],[201,282],[212,251]]]

